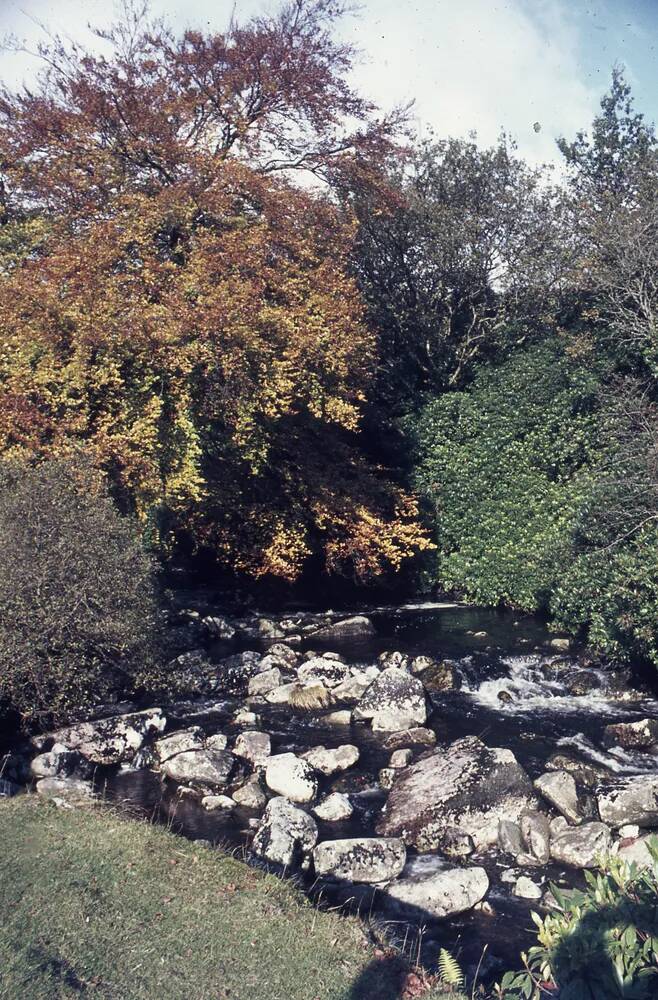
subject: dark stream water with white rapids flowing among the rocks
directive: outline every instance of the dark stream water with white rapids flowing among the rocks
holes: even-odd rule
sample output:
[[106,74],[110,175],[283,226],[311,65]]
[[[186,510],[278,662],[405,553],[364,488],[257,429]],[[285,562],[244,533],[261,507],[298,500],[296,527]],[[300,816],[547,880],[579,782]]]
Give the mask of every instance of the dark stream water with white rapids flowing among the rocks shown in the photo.
[[[400,650],[450,659],[456,664],[461,690],[431,695],[432,714],[427,725],[435,730],[439,746],[462,736],[478,736],[488,746],[512,750],[532,778],[545,771],[547,759],[558,752],[604,767],[611,774],[658,769],[658,758],[652,754],[609,750],[602,743],[603,728],[608,723],[658,719],[658,700],[651,690],[651,679],[625,679],[620,690],[614,673],[583,668],[575,659],[547,669],[547,662],[556,659],[549,646],[551,637],[544,624],[532,617],[438,603],[365,610],[376,626],[376,636],[366,642],[331,644],[350,663],[372,663],[384,650]],[[317,642],[312,645],[318,647]],[[218,650],[218,654],[226,652],[224,647]],[[571,693],[574,687],[582,690],[583,681],[587,681],[587,693]],[[633,688],[633,693],[626,690],[627,686]],[[511,700],[501,701],[501,693]],[[208,734],[230,735],[241,728],[254,728],[236,727],[231,722],[238,704],[236,700],[186,703],[166,711],[176,727],[194,724]],[[354,743],[359,747],[357,766],[326,779],[322,787],[323,792],[347,792],[354,813],[345,822],[319,823],[320,839],[372,835],[386,799],[377,781],[379,769],[386,766],[390,756],[382,749],[385,737],[373,734],[365,725],[330,727],[323,724],[321,715],[293,715],[288,708],[259,706],[257,711],[261,717],[259,728],[272,738],[273,753],[303,751],[320,744],[334,747]],[[239,852],[250,863],[258,863],[249,854],[256,814],[242,809],[230,814],[205,812],[196,796],[181,794],[181,789],[163,783],[157,773],[148,769],[121,770],[106,775],[103,781],[107,796],[124,808],[167,823],[183,836],[210,841]],[[530,910],[537,904],[512,895],[513,881],[504,875],[509,860],[492,852],[471,861],[487,868],[491,880],[487,901],[493,914],[471,912],[447,921],[392,919],[379,906],[377,893],[373,896],[371,888],[337,890],[314,881],[310,875],[298,877],[321,905],[343,904],[358,909],[368,916],[377,933],[385,931],[412,958],[420,958],[429,967],[435,964],[439,948],[448,947],[465,968],[473,969],[486,944],[482,971],[487,979],[505,968],[516,967],[520,950],[534,937]],[[437,854],[410,851],[404,874],[454,864]],[[545,887],[549,880],[563,886],[579,885],[582,878],[581,873],[555,865],[514,870]]]

